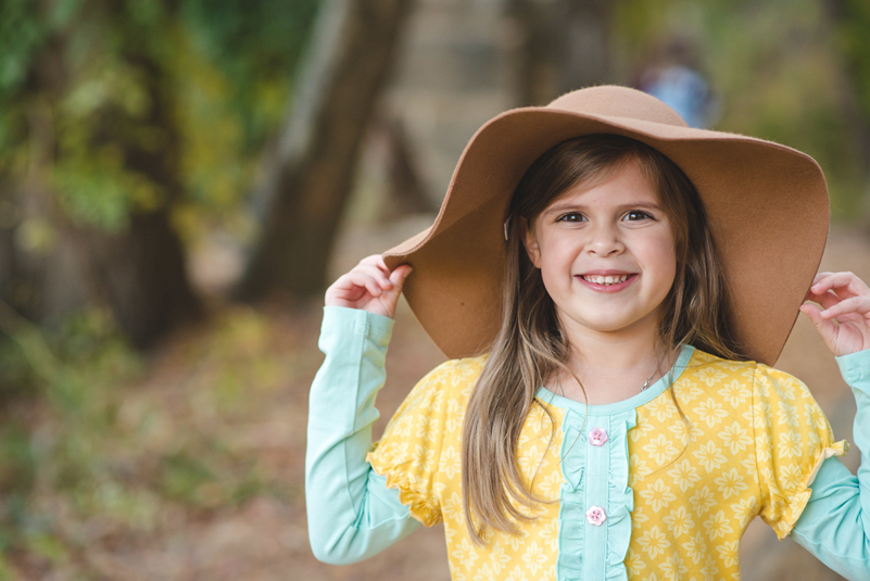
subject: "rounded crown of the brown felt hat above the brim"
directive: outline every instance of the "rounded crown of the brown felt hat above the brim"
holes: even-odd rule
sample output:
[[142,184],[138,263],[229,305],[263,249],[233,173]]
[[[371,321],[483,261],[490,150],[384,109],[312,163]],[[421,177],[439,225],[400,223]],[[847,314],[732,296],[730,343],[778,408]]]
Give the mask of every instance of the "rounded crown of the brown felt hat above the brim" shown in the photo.
[[591,87],[563,94],[547,109],[601,117],[623,117],[688,127],[683,118],[671,108],[643,91],[628,87]]

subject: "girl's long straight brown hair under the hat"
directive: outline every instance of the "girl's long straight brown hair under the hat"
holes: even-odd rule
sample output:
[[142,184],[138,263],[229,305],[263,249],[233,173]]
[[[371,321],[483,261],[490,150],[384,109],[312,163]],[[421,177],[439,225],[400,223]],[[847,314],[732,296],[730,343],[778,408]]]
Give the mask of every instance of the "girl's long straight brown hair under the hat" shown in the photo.
[[525,509],[546,502],[535,497],[522,480],[517,442],[532,405],[540,405],[534,399],[538,388],[559,370],[572,375],[566,366],[569,345],[555,305],[522,245],[521,220],[531,224],[571,186],[603,180],[632,161],[658,195],[674,238],[677,274],[664,302],[660,345],[673,349],[692,343],[722,357],[740,358],[731,340],[727,287],[713,233],[685,174],[654,148],[622,136],[580,137],[549,150],[526,172],[510,201],[501,328],[465,415],[463,504],[476,543],[483,543],[487,528],[516,533],[517,522],[533,518]]

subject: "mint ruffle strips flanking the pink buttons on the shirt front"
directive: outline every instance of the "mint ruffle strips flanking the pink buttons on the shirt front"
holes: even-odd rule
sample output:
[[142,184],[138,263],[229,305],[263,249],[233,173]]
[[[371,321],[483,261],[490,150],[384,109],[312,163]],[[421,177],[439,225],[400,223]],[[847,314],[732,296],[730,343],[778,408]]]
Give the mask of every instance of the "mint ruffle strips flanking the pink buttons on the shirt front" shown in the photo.
[[[631,541],[631,511],[634,492],[629,483],[628,431],[635,426],[634,409],[609,417],[607,446],[609,454],[605,578],[614,581],[628,579],[626,555]],[[580,581],[583,578],[583,541],[587,527],[584,506],[587,472],[587,438],[592,428],[589,418],[567,411],[563,420],[562,485],[559,508],[559,581]]]

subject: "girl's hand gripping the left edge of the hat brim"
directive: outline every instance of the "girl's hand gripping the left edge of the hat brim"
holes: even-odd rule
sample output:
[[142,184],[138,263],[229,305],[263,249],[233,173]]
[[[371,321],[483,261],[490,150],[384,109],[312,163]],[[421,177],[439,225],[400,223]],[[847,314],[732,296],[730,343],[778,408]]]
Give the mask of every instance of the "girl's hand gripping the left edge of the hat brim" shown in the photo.
[[390,273],[380,254],[367,256],[326,290],[324,302],[392,318],[411,270],[409,264],[403,264]]

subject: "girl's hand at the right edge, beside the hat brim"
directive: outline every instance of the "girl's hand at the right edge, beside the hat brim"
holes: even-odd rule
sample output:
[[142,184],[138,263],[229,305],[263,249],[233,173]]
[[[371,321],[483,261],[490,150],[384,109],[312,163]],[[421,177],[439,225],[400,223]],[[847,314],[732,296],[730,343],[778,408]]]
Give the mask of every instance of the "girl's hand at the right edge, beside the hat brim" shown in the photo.
[[870,349],[870,289],[852,273],[819,273],[800,311],[834,355]]

